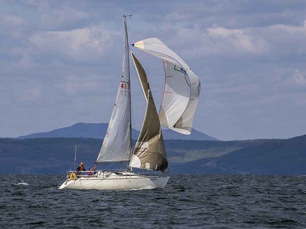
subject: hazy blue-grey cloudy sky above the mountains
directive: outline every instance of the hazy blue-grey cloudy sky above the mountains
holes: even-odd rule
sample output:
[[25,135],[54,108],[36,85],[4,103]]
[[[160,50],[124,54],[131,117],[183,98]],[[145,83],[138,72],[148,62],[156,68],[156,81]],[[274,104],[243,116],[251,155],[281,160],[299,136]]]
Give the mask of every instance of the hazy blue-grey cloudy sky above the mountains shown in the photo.
[[[0,136],[108,123],[129,43],[157,37],[199,76],[193,128],[221,140],[306,134],[306,1],[0,0]],[[132,47],[159,107],[162,62]],[[135,128],[145,101],[131,66]],[[104,136],[101,136],[104,137]]]

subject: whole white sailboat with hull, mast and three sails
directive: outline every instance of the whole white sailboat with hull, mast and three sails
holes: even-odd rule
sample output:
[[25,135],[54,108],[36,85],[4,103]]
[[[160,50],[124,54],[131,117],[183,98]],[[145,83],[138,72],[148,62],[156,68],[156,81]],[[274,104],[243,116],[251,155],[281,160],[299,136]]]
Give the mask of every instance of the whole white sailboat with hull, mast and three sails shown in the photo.
[[[82,171],[78,176],[75,171],[68,171],[66,180],[59,189],[164,188],[170,175],[161,125],[182,134],[191,133],[200,92],[199,78],[179,55],[159,39],[149,38],[132,44],[133,47],[163,60],[165,88],[160,111],[157,112],[146,72],[129,48],[127,16],[123,15],[125,44],[117,98],[95,163],[96,165],[106,162],[128,164],[119,170]],[[134,150],[132,150],[130,53],[147,103]],[[138,171],[135,171],[137,169]],[[142,173],[143,170],[146,172]]]

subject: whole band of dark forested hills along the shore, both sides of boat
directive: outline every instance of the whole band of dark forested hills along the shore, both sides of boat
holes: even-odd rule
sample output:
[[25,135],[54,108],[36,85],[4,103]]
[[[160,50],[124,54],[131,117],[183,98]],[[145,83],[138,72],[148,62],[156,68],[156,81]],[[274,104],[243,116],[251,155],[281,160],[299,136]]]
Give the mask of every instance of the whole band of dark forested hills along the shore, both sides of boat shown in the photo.
[[[96,138],[0,139],[0,174],[65,174],[77,164],[94,165]],[[172,174],[306,175],[306,135],[237,141],[165,140]],[[99,165],[100,166],[100,165]]]

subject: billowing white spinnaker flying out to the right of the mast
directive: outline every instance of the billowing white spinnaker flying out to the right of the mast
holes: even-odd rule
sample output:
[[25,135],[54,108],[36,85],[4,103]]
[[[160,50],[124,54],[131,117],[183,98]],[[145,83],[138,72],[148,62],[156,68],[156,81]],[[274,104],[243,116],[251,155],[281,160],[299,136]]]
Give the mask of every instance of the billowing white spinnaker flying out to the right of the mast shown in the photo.
[[199,78],[179,55],[157,38],[148,38],[132,45],[163,60],[166,80],[159,111],[161,124],[190,134],[200,92]]

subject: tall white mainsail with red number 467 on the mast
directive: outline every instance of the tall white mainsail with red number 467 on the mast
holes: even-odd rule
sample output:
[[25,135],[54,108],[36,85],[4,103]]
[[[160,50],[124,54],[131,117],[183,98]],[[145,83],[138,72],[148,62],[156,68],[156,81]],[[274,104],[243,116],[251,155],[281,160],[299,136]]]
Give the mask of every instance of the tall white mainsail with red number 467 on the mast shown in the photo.
[[125,44],[121,79],[111,120],[96,160],[100,162],[129,161],[132,152],[131,90],[129,43],[124,18]]

